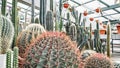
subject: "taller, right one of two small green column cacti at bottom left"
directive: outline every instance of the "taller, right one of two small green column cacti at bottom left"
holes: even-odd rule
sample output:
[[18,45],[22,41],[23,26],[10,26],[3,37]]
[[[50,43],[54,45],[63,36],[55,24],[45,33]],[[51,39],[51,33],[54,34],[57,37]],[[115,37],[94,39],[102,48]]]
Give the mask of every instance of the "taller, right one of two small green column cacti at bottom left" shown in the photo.
[[12,68],[18,68],[18,47],[14,47],[13,51],[13,67]]

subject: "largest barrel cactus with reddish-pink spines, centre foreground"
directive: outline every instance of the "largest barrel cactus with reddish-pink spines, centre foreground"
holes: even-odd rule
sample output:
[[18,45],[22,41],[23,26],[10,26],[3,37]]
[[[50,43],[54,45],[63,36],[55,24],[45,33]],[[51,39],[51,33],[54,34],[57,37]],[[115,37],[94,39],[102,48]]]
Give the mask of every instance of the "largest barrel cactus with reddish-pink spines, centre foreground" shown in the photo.
[[22,68],[78,68],[77,45],[62,32],[46,32],[26,49]]

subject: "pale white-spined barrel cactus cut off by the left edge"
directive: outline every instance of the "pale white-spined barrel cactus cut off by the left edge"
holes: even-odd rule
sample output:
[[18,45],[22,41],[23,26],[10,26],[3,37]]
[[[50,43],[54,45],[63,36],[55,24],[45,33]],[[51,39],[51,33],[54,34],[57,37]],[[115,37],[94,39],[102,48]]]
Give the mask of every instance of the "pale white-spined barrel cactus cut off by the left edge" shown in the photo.
[[10,48],[14,36],[12,22],[0,15],[0,53],[4,54]]

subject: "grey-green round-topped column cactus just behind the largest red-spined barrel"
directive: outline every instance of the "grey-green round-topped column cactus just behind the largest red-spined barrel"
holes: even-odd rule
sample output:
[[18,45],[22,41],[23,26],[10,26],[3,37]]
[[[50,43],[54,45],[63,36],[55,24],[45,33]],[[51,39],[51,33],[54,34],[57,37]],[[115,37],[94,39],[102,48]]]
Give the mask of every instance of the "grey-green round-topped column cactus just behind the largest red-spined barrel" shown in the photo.
[[53,31],[54,23],[53,23],[53,15],[52,11],[47,11],[46,14],[46,30]]

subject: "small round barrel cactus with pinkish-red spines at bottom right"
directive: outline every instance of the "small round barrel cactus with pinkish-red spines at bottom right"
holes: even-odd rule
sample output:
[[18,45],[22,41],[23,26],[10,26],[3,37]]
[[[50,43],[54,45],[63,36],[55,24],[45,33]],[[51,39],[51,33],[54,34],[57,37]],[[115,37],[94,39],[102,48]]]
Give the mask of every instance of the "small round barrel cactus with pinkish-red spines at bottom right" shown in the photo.
[[113,63],[104,54],[95,53],[85,59],[84,68],[113,68]]

